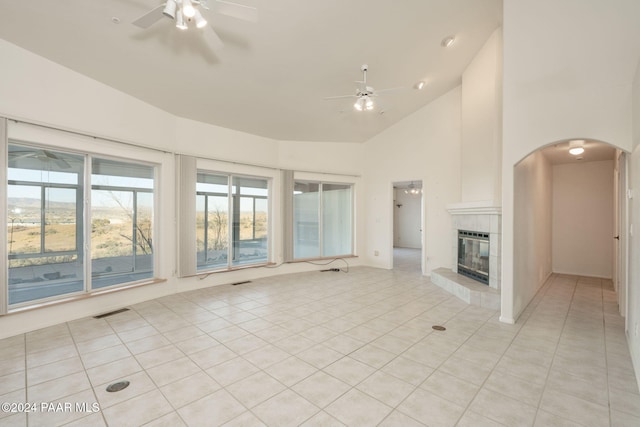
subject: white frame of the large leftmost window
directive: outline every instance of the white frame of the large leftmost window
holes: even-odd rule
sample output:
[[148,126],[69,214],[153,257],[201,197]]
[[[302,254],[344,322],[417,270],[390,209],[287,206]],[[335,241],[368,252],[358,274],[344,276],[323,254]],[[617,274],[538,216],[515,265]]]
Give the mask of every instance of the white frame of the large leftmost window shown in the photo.
[[[2,120],[6,123],[6,120]],[[0,125],[0,131],[2,130]],[[0,132],[1,133],[1,132]],[[73,254],[77,254],[79,257],[83,258],[82,265],[82,290],[76,292],[62,293],[59,295],[53,295],[45,298],[32,299],[29,301],[23,301],[19,303],[9,303],[9,253],[8,246],[5,243],[3,248],[0,250],[0,254],[2,257],[2,263],[0,263],[0,267],[2,267],[3,277],[5,278],[5,285],[0,285],[0,293],[2,297],[0,297],[0,315],[11,313],[14,311],[21,311],[24,309],[34,308],[38,306],[46,306],[50,303],[56,303],[58,301],[66,301],[73,300],[75,298],[85,298],[87,296],[92,296],[96,294],[101,294],[104,292],[110,292],[112,290],[117,290],[119,288],[130,288],[132,286],[138,286],[148,283],[156,283],[159,281],[164,281],[162,277],[166,277],[167,273],[169,273],[170,267],[162,267],[161,258],[164,257],[164,253],[161,249],[161,241],[162,237],[159,233],[161,228],[161,223],[166,221],[162,215],[161,209],[161,200],[160,200],[160,188],[162,183],[162,176],[166,174],[166,172],[170,172],[169,163],[167,158],[167,153],[163,153],[157,150],[146,149],[143,147],[137,147],[133,145],[123,144],[116,141],[102,140],[91,138],[89,136],[69,133],[64,130],[40,127],[38,125],[31,125],[27,123],[9,123],[6,126],[6,132],[1,135],[0,144],[2,145],[2,150],[0,151],[0,163],[2,164],[2,172],[0,173],[0,178],[2,178],[2,185],[5,188],[5,191],[10,185],[8,179],[8,168],[9,168],[9,155],[8,155],[8,147],[10,144],[26,146],[29,148],[35,149],[47,149],[61,153],[68,153],[71,155],[78,155],[83,157],[83,176],[79,176],[78,179],[82,180],[82,182],[78,182],[77,185],[71,185],[71,187],[76,188],[76,191],[82,190],[82,204],[79,205],[78,201],[76,201],[76,216],[81,217],[82,221],[78,223],[76,222],[76,233],[78,230],[82,230],[81,241],[82,247],[77,247],[78,242],[80,241],[79,236],[76,235],[76,250],[72,251]],[[117,152],[118,155],[114,156],[112,153]],[[171,156],[172,157],[172,156]],[[116,162],[123,163],[133,163],[144,166],[149,166],[153,168],[153,189],[151,189],[151,193],[153,194],[153,206],[152,206],[152,235],[154,239],[153,243],[153,269],[150,278],[145,278],[141,280],[134,280],[128,282],[116,283],[114,285],[102,286],[102,287],[94,287],[92,281],[96,279],[92,275],[91,268],[91,191],[93,190],[93,186],[91,183],[91,177],[93,174],[91,168],[91,160],[93,158],[104,159],[104,160],[112,160]],[[145,159],[145,160],[140,160]],[[13,181],[13,180],[12,180]],[[67,185],[59,185],[56,183],[29,183],[30,185],[35,186],[51,186],[57,188],[58,186],[67,187]],[[8,225],[8,212],[7,212],[7,199],[8,196],[2,198],[2,202],[0,203],[0,208],[2,211],[0,212],[0,220],[4,221],[5,224]],[[44,201],[41,201],[44,203]],[[79,211],[79,212],[78,212]],[[42,219],[41,214],[41,219]],[[4,227],[2,230],[2,235],[5,237],[5,242],[7,240],[8,230],[7,227]],[[44,238],[44,236],[42,236]],[[52,256],[49,252],[43,252],[44,247],[41,247],[41,253],[46,256]]]

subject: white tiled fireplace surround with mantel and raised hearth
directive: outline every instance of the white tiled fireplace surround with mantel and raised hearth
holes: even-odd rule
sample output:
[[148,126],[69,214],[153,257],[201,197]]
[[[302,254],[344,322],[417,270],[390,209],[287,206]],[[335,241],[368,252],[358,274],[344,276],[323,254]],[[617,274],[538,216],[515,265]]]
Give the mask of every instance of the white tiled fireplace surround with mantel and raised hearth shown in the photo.
[[[463,301],[481,307],[500,308],[501,208],[488,203],[449,205],[451,214],[452,269],[431,272],[431,281]],[[458,274],[458,230],[489,233],[489,286]]]

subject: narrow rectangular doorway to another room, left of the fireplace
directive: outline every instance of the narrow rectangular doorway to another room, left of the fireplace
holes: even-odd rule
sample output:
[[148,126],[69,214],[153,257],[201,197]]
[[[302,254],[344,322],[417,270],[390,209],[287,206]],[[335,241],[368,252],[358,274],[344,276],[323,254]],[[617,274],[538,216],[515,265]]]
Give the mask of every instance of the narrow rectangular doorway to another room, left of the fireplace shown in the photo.
[[422,181],[393,183],[393,268],[422,273]]

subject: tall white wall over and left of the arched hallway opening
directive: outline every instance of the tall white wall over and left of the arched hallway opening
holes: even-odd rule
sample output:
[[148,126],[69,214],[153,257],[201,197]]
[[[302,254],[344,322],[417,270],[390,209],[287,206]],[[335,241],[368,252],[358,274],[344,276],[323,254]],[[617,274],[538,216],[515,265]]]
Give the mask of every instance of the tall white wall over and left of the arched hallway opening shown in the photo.
[[573,138],[631,151],[638,16],[640,2],[628,0],[504,2],[503,321],[514,322],[523,307],[515,301],[527,299],[514,281],[514,165]]

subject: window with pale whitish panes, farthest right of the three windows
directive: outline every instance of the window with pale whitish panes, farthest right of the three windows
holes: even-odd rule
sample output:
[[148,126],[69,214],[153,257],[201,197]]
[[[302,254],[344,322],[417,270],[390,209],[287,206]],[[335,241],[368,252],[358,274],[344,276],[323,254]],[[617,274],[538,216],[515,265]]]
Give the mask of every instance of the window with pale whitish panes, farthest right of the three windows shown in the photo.
[[351,189],[351,184],[295,181],[294,258],[353,253]]

